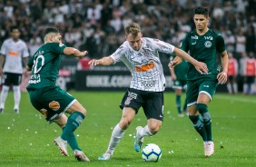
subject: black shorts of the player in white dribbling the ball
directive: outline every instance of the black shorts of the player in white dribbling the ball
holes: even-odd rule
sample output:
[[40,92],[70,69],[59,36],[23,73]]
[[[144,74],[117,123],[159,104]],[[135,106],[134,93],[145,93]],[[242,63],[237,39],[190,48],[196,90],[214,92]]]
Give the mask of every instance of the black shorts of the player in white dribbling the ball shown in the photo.
[[162,121],[163,92],[148,92],[128,88],[127,92],[123,95],[120,108],[132,107],[137,114],[141,106],[147,119],[154,118]]

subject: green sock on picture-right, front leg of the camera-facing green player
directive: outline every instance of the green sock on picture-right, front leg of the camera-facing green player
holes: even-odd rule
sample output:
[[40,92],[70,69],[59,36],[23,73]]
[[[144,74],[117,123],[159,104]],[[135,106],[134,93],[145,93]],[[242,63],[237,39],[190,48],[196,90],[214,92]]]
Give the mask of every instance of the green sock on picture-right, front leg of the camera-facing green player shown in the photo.
[[205,103],[197,103],[196,108],[202,115],[202,123],[204,124],[207,141],[212,141],[212,119]]

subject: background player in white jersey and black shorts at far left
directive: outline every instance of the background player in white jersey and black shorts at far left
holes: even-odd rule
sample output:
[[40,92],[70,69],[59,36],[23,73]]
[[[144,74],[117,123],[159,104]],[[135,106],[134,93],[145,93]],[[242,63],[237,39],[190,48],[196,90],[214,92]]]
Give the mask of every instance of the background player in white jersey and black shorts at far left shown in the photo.
[[13,86],[15,98],[14,110],[15,113],[19,113],[19,104],[21,99],[19,85],[21,83],[23,74],[23,63],[26,64],[29,56],[25,42],[19,38],[20,30],[18,27],[12,26],[10,29],[10,34],[11,38],[4,41],[0,52],[0,74],[3,81],[0,96],[0,113],[4,113],[5,100],[11,85]]

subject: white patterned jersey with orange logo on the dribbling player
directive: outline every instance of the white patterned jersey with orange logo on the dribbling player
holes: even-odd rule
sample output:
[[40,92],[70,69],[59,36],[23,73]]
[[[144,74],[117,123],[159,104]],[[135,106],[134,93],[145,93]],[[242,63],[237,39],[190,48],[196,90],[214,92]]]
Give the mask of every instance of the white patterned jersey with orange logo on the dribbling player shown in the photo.
[[174,46],[158,39],[143,38],[143,45],[139,51],[133,50],[125,41],[113,54],[114,64],[122,61],[130,72],[133,79],[130,88],[162,92],[165,88],[165,78],[158,52],[172,54]]

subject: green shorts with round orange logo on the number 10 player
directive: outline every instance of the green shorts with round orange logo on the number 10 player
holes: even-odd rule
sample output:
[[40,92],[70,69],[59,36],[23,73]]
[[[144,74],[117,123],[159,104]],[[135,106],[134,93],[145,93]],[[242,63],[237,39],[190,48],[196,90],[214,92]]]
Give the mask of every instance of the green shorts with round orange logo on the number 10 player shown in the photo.
[[63,114],[76,100],[58,86],[28,90],[30,102],[42,113],[47,122]]

